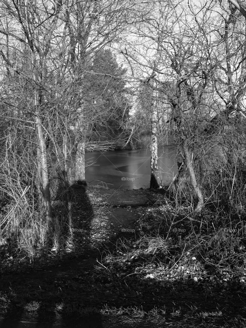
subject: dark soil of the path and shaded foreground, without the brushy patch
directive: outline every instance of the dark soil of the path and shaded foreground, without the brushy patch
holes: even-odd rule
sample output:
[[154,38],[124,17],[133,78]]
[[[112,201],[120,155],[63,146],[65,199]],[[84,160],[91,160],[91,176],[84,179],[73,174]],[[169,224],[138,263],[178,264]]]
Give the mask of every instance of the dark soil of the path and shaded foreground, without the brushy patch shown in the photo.
[[[2,268],[0,327],[243,326],[246,295],[236,284],[225,294],[194,281],[163,287],[137,272],[129,274],[127,264],[113,276],[109,273],[105,256],[119,240],[134,243],[140,238],[135,222],[156,206],[155,193],[81,186],[74,189],[73,202],[79,230],[74,232],[74,253],[47,250],[42,264],[37,260]],[[109,310],[130,307],[139,312],[121,315],[121,320],[120,312]]]

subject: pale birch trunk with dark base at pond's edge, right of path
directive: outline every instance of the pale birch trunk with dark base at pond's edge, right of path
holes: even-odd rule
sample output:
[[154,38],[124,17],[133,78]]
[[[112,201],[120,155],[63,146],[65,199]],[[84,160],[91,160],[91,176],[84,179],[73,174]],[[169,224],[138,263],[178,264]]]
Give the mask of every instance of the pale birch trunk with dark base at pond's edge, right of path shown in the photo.
[[150,176],[150,188],[161,188],[159,181],[159,171],[158,171],[158,155],[157,155],[157,149],[158,149],[158,143],[157,143],[157,111],[153,109],[152,106],[152,113],[151,113],[151,176]]

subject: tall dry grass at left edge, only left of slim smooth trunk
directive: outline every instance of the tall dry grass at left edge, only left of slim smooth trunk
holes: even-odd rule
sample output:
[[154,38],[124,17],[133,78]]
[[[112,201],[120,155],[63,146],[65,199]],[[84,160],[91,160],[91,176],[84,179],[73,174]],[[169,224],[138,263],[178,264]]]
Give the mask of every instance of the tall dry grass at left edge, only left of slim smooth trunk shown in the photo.
[[40,216],[31,174],[26,163],[16,155],[9,157],[7,163],[2,157],[0,190],[5,206],[0,214],[0,238],[5,244],[34,256],[36,249],[44,247],[47,241],[47,227]]

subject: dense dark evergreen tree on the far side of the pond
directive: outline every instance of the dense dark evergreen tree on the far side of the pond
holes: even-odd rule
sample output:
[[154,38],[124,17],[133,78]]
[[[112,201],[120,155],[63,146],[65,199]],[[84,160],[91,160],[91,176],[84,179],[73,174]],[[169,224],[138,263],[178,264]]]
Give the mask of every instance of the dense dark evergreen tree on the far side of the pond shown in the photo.
[[84,89],[90,140],[110,140],[122,134],[131,108],[125,73],[126,69],[117,63],[110,50],[96,53]]

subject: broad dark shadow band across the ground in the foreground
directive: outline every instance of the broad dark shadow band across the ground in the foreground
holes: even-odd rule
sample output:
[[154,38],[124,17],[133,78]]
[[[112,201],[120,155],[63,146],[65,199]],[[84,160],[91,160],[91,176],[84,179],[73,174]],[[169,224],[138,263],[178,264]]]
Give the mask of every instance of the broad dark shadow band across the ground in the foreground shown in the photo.
[[[46,281],[29,278],[22,286],[16,280],[11,283],[16,295],[12,297],[0,327],[99,328],[105,326],[110,316],[115,324],[119,320],[118,326],[112,324],[110,327],[129,327],[129,324],[123,324],[124,317],[131,319],[129,307],[135,309],[135,318],[143,312],[145,320],[154,322],[165,318],[166,322],[176,323],[176,327],[189,322],[194,327],[222,327],[226,322],[232,322],[231,326],[236,327],[240,326],[240,318],[245,315],[246,295],[238,284],[232,283],[225,293],[222,288],[208,286],[204,289],[204,284],[195,284],[192,279],[186,284],[179,281],[160,285],[152,279],[129,275],[129,271],[122,279],[108,275],[107,270],[93,278],[94,274],[91,272],[84,280],[79,275],[71,275],[64,283],[58,281],[61,277],[57,275],[47,277]],[[111,280],[107,281],[109,278]],[[43,295],[37,295],[39,286]],[[38,309],[27,313],[27,305],[35,302],[39,303]],[[154,318],[150,315],[154,309],[164,311],[164,314]],[[146,321],[142,326],[143,323]],[[150,323],[149,327],[153,324]]]

